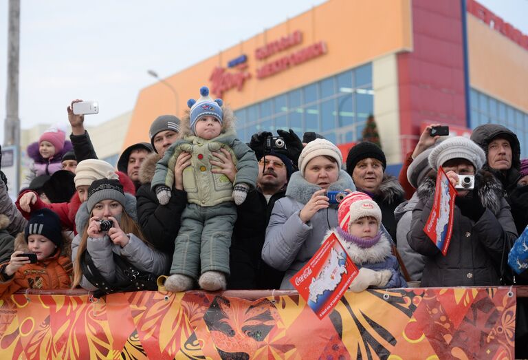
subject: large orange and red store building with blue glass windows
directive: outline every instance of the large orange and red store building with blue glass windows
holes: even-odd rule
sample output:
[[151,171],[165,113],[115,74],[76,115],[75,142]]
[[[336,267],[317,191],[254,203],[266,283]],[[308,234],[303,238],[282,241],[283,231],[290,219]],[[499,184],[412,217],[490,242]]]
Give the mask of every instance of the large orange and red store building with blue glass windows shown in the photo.
[[292,128],[346,151],[373,114],[391,171],[428,123],[505,125],[526,158],[527,84],[528,36],[474,0],[329,0],[142,89],[123,147],[208,85],[244,141]]

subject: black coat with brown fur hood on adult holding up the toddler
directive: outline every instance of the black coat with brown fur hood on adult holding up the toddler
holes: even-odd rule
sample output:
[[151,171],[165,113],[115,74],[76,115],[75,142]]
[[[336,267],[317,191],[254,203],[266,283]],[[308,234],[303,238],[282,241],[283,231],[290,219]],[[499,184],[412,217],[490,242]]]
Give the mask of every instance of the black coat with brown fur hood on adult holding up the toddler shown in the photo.
[[159,204],[155,191],[151,190],[151,180],[159,159],[157,153],[151,153],[141,164],[140,182],[142,185],[135,194],[137,220],[146,240],[172,258],[174,240],[181,224],[181,213],[187,204],[187,193],[173,187],[168,204]]

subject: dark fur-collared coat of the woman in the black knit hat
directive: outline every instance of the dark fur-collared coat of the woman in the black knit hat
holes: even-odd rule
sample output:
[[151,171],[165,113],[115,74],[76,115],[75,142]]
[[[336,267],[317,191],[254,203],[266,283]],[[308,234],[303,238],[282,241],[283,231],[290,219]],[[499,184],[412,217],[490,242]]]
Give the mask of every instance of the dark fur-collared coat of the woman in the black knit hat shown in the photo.
[[382,224],[396,242],[396,219],[394,217],[394,211],[401,202],[405,201],[405,191],[401,187],[401,184],[399,184],[398,179],[395,176],[385,174],[377,193],[373,194],[359,188],[358,191],[369,194],[377,206],[380,207],[382,210]]

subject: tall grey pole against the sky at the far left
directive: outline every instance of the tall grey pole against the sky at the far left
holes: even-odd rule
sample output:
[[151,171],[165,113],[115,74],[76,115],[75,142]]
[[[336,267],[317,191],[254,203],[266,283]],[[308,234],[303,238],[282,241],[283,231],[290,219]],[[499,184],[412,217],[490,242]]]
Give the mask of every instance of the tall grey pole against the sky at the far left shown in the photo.
[[20,147],[19,119],[20,0],[9,0],[8,86],[4,123],[4,145]]

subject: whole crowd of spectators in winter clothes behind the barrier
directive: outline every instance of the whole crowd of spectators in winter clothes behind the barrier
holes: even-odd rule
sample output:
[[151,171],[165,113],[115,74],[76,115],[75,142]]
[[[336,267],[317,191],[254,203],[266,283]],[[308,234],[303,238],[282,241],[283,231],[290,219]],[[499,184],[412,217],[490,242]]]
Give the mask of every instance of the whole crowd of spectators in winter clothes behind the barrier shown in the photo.
[[[331,230],[360,268],[351,290],[528,284],[528,271],[514,276],[504,260],[528,224],[528,160],[506,127],[445,138],[430,136],[430,125],[396,178],[371,142],[347,158],[322,136],[301,140],[291,129],[243,144],[230,108],[201,89],[181,120],[153,120],[150,141],[127,147],[115,169],[98,159],[84,117],[72,112],[77,101],[67,107],[69,140],[53,127],[30,145],[34,162],[14,203],[2,173],[3,296],[154,290],[160,275],[173,291],[292,289],[289,279]],[[452,184],[474,176],[474,189],[456,195],[445,255],[424,231],[439,167]],[[333,204],[327,191],[350,198]],[[526,307],[520,300],[517,341],[528,337]]]

